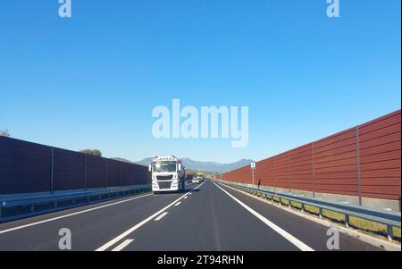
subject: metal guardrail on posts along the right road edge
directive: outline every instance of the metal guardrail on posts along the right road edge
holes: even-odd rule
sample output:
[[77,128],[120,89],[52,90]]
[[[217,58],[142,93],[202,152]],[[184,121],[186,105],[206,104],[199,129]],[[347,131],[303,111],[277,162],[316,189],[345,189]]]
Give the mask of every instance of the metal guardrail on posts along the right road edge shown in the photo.
[[[345,215],[345,225],[349,226],[349,217],[354,216],[367,221],[372,221],[375,223],[381,223],[387,226],[387,236],[389,240],[394,238],[393,227],[400,228],[401,225],[401,214],[398,212],[389,212],[387,210],[379,210],[368,208],[364,206],[352,206],[345,205],[337,202],[323,201],[316,198],[304,198],[296,195],[291,195],[289,193],[274,192],[268,189],[258,189],[249,187],[240,183],[232,183],[227,181],[220,181],[222,184],[228,185],[230,187],[246,191],[257,196],[264,196],[264,198],[269,198],[272,202],[278,199],[279,204],[283,203],[283,200],[288,201],[288,206],[293,206],[291,202],[295,202],[301,205],[301,210],[305,211],[306,206],[314,206],[318,208],[318,214],[322,217],[322,210],[329,210],[339,214]],[[297,206],[294,206],[297,207]]]

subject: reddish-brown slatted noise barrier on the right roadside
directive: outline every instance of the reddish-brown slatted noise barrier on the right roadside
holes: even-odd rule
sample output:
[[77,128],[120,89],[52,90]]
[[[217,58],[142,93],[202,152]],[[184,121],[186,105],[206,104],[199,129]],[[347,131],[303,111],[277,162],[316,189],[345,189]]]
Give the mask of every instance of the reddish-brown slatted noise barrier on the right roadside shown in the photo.
[[[255,184],[281,189],[400,199],[401,112],[256,163]],[[250,167],[223,180],[252,183]]]

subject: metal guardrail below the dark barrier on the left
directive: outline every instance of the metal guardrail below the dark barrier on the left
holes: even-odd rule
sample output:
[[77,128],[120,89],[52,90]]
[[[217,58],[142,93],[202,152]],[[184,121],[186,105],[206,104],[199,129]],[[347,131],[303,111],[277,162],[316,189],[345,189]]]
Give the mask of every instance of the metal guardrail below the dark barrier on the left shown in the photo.
[[0,223],[147,192],[151,185],[0,199]]

